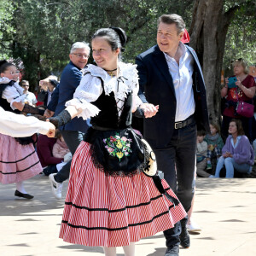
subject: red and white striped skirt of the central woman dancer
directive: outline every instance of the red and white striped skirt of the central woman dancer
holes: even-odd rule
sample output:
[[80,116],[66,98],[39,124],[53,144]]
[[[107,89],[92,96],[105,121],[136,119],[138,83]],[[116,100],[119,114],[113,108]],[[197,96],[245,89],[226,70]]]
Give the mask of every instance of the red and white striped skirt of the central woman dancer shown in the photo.
[[[165,180],[164,188],[176,197]],[[168,230],[187,215],[143,173],[133,177],[106,176],[82,142],[73,155],[60,237],[90,247],[121,247]]]

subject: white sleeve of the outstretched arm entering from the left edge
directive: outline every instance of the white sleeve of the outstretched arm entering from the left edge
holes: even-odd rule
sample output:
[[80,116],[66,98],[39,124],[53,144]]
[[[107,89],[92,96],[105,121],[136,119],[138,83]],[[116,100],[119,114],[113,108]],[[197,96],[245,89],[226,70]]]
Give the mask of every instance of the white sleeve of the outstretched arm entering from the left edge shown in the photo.
[[3,110],[0,107],[0,133],[11,137],[27,137],[39,132],[47,134],[52,125],[35,117],[26,117]]

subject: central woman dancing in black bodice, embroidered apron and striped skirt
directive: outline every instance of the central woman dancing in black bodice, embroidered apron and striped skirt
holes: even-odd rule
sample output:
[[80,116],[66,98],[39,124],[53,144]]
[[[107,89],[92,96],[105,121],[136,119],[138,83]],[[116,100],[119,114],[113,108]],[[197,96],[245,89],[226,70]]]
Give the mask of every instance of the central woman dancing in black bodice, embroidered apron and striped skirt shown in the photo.
[[123,247],[125,256],[135,255],[134,242],[170,229],[186,216],[166,181],[142,172],[142,166],[150,166],[142,137],[131,128],[131,112],[137,113],[141,102],[136,66],[119,61],[125,42],[120,28],[94,34],[91,46],[97,66],[84,70],[66,110],[50,118],[63,125],[79,116],[90,118],[92,125],[73,155],[60,237],[104,247],[108,256],[116,255],[115,247]]

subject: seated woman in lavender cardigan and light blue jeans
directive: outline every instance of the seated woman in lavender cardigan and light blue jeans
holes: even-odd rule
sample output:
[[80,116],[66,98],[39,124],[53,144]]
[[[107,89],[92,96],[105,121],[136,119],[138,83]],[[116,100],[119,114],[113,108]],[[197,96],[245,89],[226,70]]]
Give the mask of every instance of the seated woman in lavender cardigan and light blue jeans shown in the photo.
[[222,156],[218,159],[215,177],[219,177],[223,166],[226,168],[226,177],[234,177],[234,169],[241,173],[252,172],[253,147],[244,135],[240,120],[231,120],[229,133],[230,136],[222,148]]

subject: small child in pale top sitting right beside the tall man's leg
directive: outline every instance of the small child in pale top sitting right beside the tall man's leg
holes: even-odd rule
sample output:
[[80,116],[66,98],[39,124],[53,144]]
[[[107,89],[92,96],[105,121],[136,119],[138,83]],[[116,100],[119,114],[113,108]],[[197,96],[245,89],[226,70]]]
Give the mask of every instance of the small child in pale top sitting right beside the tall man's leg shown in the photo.
[[205,131],[197,131],[197,144],[196,144],[196,173],[200,177],[209,177],[207,173],[207,142],[204,141],[206,137]]

